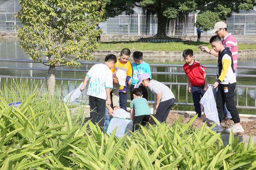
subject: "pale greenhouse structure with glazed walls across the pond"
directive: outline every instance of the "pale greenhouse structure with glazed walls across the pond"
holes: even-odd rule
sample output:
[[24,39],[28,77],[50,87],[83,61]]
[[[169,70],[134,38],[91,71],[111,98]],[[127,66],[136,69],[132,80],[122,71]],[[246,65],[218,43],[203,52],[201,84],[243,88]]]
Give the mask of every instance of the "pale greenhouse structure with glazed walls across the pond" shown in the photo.
[[[15,25],[22,26],[21,22],[14,17],[15,12],[19,11],[21,6],[18,0],[0,0],[0,31],[16,32]],[[157,33],[157,18],[152,16],[150,22],[144,22],[145,16],[141,8],[135,7],[133,15],[119,15],[109,18],[106,22],[99,23],[103,34],[133,34],[154,35]],[[166,29],[169,35],[196,35],[194,23],[197,19],[197,13],[189,13],[187,27],[182,23],[172,23]],[[233,13],[232,17],[226,20],[228,32],[239,35],[256,35],[256,7],[250,11],[240,11],[239,14]],[[209,31],[203,34],[209,34]]]

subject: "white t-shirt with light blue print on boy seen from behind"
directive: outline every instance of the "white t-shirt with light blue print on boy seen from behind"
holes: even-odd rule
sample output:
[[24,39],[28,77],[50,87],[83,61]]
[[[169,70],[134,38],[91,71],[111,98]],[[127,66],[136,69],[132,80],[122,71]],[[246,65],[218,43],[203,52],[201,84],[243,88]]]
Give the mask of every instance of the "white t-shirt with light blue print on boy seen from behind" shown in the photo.
[[113,88],[113,76],[109,67],[105,64],[96,64],[86,75],[90,78],[87,95],[106,100],[106,88]]

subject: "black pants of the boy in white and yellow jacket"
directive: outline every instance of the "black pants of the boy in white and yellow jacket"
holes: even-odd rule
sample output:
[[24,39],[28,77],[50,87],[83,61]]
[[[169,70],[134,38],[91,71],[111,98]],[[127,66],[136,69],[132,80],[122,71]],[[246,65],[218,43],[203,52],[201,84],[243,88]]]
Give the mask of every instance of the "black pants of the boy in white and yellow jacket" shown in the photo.
[[220,122],[223,119],[223,105],[226,102],[226,106],[228,111],[230,112],[234,123],[240,122],[239,113],[237,111],[237,107],[235,106],[235,85],[236,83],[232,84],[220,84],[217,91],[216,97],[216,106],[218,110],[218,116]]

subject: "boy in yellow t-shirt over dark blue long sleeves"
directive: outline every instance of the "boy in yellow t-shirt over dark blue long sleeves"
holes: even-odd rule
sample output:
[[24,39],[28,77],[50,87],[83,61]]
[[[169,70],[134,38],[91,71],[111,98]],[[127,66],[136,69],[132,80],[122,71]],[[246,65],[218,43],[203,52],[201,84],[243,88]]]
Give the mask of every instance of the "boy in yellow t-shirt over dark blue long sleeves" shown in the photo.
[[131,51],[128,48],[122,49],[121,53],[119,53],[120,58],[117,59],[115,66],[111,69],[112,72],[116,72],[117,70],[124,70],[126,72],[126,81],[125,86],[121,86],[119,90],[119,103],[121,109],[126,110],[127,103],[127,92],[128,92],[128,81],[132,75],[132,66],[128,59],[130,58]]

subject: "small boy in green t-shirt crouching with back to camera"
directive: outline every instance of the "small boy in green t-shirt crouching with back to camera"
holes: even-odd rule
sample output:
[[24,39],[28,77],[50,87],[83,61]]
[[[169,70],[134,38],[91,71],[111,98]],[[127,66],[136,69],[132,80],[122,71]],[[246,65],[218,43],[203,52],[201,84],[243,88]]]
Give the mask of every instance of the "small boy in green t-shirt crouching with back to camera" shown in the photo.
[[133,100],[131,101],[131,119],[133,119],[133,131],[136,131],[142,126],[145,126],[149,121],[150,108],[147,100],[142,98],[142,90],[140,88],[133,88]]

